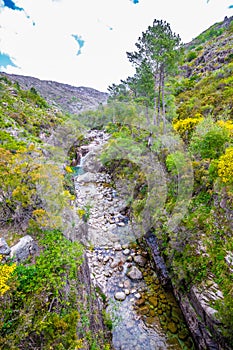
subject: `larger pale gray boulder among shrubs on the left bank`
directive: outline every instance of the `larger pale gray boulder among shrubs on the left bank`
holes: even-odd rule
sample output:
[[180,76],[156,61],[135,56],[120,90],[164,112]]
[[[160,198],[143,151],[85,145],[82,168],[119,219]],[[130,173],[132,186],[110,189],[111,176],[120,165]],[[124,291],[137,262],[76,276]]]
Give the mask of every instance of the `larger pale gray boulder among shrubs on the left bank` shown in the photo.
[[11,248],[10,256],[15,261],[26,260],[37,251],[37,244],[29,235],[20,238],[19,242]]

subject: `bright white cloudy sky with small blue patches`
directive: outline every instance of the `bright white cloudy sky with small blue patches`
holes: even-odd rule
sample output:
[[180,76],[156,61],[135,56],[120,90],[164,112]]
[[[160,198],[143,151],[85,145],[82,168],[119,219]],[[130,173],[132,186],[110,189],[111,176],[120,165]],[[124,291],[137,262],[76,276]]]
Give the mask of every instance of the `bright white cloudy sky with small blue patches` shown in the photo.
[[233,0],[0,0],[0,71],[107,91],[134,74],[126,52],[154,19],[187,43]]

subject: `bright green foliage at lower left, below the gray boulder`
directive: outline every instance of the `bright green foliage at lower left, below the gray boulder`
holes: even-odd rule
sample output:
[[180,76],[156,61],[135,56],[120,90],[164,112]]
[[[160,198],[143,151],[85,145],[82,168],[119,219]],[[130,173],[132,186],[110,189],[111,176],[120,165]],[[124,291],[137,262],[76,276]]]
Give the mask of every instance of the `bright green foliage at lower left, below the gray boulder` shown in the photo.
[[80,317],[75,288],[83,250],[59,231],[40,236],[40,255],[16,267],[12,292],[2,300],[1,344],[4,349],[74,350]]

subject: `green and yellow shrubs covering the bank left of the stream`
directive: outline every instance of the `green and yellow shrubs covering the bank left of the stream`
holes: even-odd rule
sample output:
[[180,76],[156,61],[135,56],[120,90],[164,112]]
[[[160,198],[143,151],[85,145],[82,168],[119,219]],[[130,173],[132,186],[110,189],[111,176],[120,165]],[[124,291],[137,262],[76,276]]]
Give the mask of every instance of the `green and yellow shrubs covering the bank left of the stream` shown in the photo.
[[83,247],[72,242],[68,151],[82,128],[34,88],[1,76],[0,94],[1,233],[9,245],[30,234],[38,246],[17,264],[0,257],[0,348],[107,350],[105,335],[91,334],[90,301],[79,281]]

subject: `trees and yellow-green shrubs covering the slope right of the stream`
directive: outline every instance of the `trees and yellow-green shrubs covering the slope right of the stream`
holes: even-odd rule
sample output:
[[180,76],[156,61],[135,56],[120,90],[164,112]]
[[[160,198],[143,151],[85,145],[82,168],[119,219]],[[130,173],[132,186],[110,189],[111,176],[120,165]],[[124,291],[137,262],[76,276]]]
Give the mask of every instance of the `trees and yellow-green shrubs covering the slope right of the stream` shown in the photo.
[[[136,74],[109,88],[101,125],[112,136],[102,161],[121,181],[141,232],[156,234],[176,288],[207,288],[209,278],[218,285],[224,299],[213,305],[222,323],[216,332],[232,346],[232,265],[226,258],[233,248],[232,25],[216,24],[186,45],[183,73],[175,79],[168,59],[163,102],[154,80],[158,28],[166,33],[166,25],[155,21],[139,38],[138,51],[128,54]],[[155,106],[165,108],[165,134],[161,119],[154,122]]]

